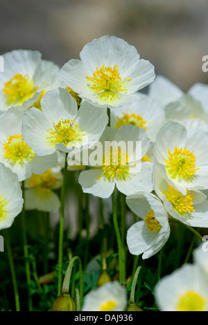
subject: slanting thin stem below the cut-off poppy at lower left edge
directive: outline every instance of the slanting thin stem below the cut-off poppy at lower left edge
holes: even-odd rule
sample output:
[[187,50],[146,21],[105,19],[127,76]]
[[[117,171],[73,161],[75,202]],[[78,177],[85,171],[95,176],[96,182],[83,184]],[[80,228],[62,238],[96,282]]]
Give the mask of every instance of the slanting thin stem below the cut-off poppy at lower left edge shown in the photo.
[[12,284],[13,284],[13,288],[14,288],[14,292],[15,292],[15,305],[16,305],[16,311],[20,311],[20,306],[19,306],[19,293],[18,293],[18,288],[17,288],[17,279],[16,279],[16,275],[15,275],[15,266],[14,266],[14,261],[12,259],[12,250],[11,250],[11,246],[10,246],[10,239],[8,236],[8,231],[2,230],[3,231],[3,238],[6,242],[6,248],[7,248],[7,253],[8,253],[8,259],[10,262],[10,270],[11,270],[11,274],[12,274]]

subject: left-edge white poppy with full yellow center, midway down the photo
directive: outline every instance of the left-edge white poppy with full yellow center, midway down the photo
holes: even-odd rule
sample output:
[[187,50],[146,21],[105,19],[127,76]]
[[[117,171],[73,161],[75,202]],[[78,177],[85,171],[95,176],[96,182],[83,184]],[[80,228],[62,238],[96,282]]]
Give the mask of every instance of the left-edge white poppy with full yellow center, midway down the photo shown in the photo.
[[57,154],[40,157],[26,144],[21,133],[21,116],[15,111],[0,115],[0,161],[17,174],[19,181],[32,173],[42,174],[57,163]]

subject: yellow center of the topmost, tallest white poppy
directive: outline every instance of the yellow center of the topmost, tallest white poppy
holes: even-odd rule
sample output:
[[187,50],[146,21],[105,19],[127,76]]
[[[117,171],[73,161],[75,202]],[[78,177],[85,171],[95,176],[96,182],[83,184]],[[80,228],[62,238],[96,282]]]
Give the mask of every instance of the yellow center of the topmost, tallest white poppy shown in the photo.
[[100,100],[103,102],[114,102],[118,100],[119,92],[126,92],[126,82],[129,82],[131,78],[126,78],[121,80],[119,73],[119,66],[115,65],[114,68],[105,64],[101,68],[96,66],[96,71],[93,73],[92,77],[87,77],[87,82],[89,89],[94,93],[98,93]]

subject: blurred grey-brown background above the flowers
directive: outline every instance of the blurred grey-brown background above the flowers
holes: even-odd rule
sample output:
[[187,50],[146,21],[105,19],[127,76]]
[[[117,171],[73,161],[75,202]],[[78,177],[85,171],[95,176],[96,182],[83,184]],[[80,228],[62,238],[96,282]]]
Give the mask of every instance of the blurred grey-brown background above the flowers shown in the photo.
[[207,13],[207,0],[0,0],[0,53],[40,50],[61,67],[92,39],[115,35],[187,91],[208,82]]

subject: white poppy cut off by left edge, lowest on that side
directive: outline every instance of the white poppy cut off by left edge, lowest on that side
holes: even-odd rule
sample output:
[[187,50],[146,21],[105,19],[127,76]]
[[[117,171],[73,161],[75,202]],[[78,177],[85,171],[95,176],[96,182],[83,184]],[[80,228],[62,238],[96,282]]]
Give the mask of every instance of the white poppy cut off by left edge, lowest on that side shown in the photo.
[[11,169],[0,163],[0,230],[9,228],[22,209],[19,180]]

